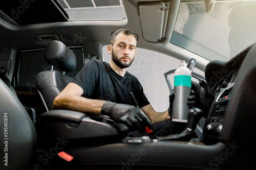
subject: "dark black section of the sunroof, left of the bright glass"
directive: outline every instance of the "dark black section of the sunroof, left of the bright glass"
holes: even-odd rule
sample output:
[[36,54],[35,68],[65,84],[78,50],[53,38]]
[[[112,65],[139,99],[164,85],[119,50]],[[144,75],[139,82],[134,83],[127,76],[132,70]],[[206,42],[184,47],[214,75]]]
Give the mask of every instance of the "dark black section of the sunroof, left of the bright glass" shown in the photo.
[[[66,12],[53,1],[6,1],[0,6],[7,22],[17,25],[68,21]],[[61,11],[62,10],[62,11]]]

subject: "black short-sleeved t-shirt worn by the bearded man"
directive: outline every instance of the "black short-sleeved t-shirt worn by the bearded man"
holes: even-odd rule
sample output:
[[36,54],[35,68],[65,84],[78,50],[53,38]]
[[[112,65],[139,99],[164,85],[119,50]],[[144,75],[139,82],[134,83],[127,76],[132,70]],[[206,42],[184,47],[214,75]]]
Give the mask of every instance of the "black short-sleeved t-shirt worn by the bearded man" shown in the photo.
[[150,104],[135,76],[126,71],[122,77],[109,63],[100,60],[92,60],[84,65],[72,82],[79,85],[83,89],[83,96],[89,99],[135,105],[130,95],[133,92],[139,107]]

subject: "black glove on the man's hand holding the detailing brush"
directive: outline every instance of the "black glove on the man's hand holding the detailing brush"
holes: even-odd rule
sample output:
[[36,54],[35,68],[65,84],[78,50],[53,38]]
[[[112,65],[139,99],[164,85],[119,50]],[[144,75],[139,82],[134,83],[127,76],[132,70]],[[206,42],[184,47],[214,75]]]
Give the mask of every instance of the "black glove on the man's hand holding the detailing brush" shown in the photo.
[[106,101],[101,107],[101,114],[110,116],[115,122],[122,123],[130,129],[135,126],[140,133],[145,132],[146,126],[153,129],[151,122],[147,120],[145,115],[132,105]]

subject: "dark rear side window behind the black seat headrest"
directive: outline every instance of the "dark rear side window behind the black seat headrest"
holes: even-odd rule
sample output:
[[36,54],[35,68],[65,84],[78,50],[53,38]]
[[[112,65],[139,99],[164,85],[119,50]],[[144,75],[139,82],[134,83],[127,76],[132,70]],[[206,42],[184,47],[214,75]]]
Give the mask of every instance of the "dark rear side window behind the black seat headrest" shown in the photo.
[[[77,64],[76,68],[72,72],[65,72],[65,75],[74,78],[83,67],[83,52],[82,47],[70,48],[76,55]],[[32,91],[34,91],[36,87],[34,84],[35,75],[40,71],[51,70],[50,64],[48,64],[44,59],[44,50],[20,52],[17,64],[18,70],[16,70],[13,80],[14,86],[26,87]],[[56,67],[53,67],[53,69],[59,70]]]

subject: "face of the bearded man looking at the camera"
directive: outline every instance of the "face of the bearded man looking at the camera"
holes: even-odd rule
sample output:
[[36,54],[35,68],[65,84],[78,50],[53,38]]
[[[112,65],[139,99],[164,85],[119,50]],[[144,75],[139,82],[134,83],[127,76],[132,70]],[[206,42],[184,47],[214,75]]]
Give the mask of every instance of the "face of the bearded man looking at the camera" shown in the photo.
[[[133,35],[118,34],[113,46],[108,47],[112,61],[119,68],[129,67],[136,54],[136,39]],[[111,51],[110,51],[111,50]]]

